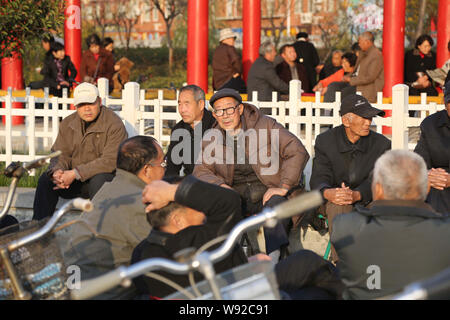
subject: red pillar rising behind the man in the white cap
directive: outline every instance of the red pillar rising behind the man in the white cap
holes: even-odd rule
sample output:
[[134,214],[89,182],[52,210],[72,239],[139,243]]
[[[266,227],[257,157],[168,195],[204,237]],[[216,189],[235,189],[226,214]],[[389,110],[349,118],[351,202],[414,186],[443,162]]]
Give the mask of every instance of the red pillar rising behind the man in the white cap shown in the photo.
[[64,49],[78,71],[75,80],[81,81],[81,1],[66,0],[64,15]]

